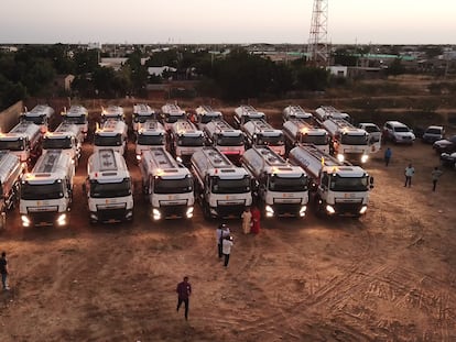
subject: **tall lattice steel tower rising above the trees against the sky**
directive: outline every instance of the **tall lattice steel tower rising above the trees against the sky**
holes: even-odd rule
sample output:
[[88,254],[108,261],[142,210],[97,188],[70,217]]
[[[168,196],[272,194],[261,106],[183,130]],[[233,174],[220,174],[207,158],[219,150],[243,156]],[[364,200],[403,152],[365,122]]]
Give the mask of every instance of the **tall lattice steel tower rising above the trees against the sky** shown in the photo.
[[327,66],[329,64],[327,32],[328,0],[314,0],[311,34],[307,45],[308,59],[313,65]]

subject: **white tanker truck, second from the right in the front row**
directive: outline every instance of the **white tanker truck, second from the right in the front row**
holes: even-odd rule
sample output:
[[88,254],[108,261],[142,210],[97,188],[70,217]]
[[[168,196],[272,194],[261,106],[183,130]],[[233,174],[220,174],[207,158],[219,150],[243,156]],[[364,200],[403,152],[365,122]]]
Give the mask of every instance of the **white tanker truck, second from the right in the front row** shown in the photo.
[[305,216],[308,179],[301,166],[285,162],[269,146],[247,150],[241,163],[254,179],[253,194],[267,218]]

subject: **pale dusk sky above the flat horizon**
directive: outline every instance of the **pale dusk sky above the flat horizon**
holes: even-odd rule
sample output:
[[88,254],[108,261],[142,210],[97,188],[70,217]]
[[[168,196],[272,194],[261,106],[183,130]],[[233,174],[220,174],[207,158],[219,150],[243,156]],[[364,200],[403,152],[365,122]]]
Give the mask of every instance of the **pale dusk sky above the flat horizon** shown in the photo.
[[[313,0],[2,0],[0,43],[305,44],[312,9]],[[327,36],[455,44],[455,0],[329,0]]]

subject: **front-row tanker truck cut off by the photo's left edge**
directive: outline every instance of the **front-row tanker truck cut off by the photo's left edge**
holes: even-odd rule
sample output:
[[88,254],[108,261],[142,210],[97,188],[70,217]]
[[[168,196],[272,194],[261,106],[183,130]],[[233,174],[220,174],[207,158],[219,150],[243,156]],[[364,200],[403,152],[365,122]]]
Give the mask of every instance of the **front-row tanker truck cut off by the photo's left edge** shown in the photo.
[[6,227],[7,211],[14,208],[19,199],[22,173],[19,157],[8,151],[0,151],[0,229]]

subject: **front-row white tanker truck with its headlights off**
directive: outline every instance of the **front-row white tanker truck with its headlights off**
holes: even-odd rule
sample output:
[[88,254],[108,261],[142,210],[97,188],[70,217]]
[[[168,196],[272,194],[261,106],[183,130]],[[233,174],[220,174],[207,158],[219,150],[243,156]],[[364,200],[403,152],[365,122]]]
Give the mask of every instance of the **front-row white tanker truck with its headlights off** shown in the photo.
[[133,220],[133,186],[127,163],[112,148],[95,152],[87,163],[87,195],[89,220],[118,222]]

